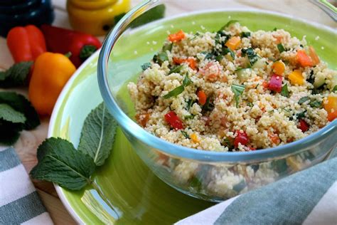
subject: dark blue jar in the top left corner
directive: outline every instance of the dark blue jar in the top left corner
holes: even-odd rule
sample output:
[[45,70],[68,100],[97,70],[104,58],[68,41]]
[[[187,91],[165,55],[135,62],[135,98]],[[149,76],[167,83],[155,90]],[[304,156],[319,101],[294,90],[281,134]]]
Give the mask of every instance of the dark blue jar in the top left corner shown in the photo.
[[50,0],[0,0],[0,35],[6,37],[14,26],[52,23],[55,18]]

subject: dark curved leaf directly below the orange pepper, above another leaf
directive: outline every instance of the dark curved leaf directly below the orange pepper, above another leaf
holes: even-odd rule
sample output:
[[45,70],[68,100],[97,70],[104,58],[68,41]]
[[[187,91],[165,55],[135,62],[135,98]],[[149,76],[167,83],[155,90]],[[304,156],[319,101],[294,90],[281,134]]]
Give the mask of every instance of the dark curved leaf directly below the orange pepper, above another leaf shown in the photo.
[[38,113],[23,95],[14,92],[0,92],[0,103],[10,105],[11,108],[25,115],[26,122],[24,123],[23,129],[32,130],[40,125]]

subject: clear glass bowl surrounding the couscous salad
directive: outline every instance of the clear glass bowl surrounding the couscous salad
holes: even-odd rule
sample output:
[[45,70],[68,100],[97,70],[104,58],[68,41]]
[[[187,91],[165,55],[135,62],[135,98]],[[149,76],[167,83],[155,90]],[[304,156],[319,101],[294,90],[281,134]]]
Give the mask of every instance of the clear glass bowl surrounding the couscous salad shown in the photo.
[[[311,1],[265,2],[143,1],[117,23],[102,46],[98,80],[107,108],[139,157],[180,192],[219,202],[311,167],[336,152],[337,120],[301,140],[250,152],[210,152],[174,145],[146,132],[134,120],[127,83],[137,80],[141,65],[161,49],[168,33],[180,29],[215,31],[232,19],[252,31],[284,28],[292,36],[306,35],[323,61],[336,69],[336,22],[328,14]],[[166,7],[164,19],[133,28],[134,19],[160,4]]]

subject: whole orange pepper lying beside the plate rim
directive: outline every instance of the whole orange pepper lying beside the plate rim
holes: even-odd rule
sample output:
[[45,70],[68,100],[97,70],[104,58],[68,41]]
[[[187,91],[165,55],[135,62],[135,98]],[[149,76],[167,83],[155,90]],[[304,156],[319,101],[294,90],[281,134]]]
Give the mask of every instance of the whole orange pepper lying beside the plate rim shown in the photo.
[[43,53],[36,58],[28,95],[40,115],[50,115],[58,95],[76,68],[60,53]]

